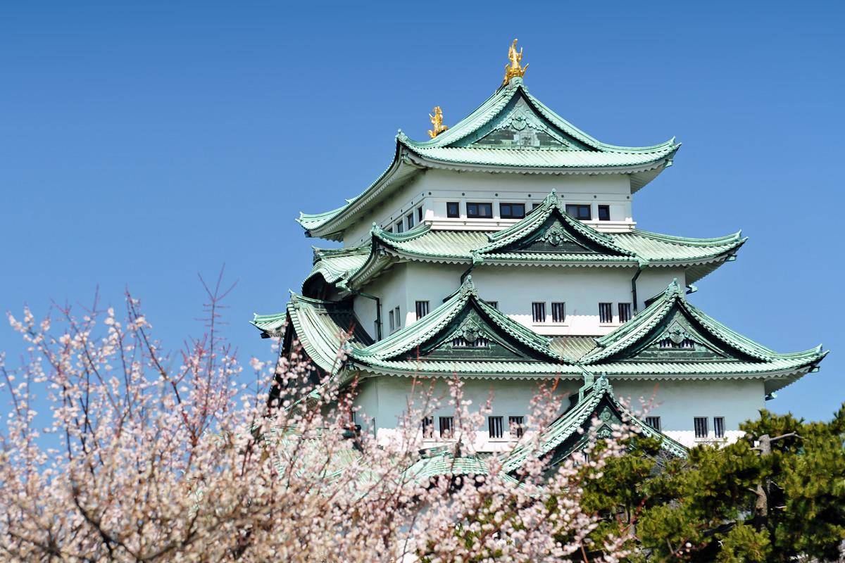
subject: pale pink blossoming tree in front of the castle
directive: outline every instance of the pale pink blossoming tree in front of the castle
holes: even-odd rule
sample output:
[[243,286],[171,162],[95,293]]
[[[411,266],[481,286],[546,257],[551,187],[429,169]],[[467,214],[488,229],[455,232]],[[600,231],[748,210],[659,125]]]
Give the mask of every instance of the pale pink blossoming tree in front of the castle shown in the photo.
[[[472,457],[490,405],[461,382],[433,397],[420,379],[387,444],[351,424],[355,383],[319,378],[296,347],[268,363],[237,361],[221,338],[220,283],[208,291],[208,329],[177,355],[153,338],[139,300],[125,311],[27,309],[12,328],[28,356],[0,365],[8,417],[0,430],[0,559],[19,561],[614,561],[630,524],[588,538],[597,516],[584,485],[619,457],[619,440],[590,447],[551,479],[544,457],[504,474],[447,467],[421,478],[423,416],[445,401],[455,440],[444,459]],[[337,360],[343,360],[338,352]],[[270,409],[270,387],[282,393]],[[540,387],[529,425],[559,412],[553,382]],[[52,413],[37,414],[36,404]],[[44,423],[43,420],[48,420]],[[537,433],[518,447],[536,448]],[[577,461],[577,463],[576,463]]]

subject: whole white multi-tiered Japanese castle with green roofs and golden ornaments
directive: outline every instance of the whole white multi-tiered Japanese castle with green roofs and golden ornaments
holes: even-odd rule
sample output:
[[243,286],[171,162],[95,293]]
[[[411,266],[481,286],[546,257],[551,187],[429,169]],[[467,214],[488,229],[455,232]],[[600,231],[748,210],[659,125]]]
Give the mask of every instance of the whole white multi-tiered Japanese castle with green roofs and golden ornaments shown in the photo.
[[[493,394],[478,452],[510,451],[524,430],[541,430],[528,425],[541,381],[569,396],[542,429],[558,456],[592,417],[609,426],[624,415],[619,396],[639,407],[656,387],[644,430],[667,449],[741,435],[826,351],[775,352],[693,306],[694,284],[747,239],[641,230],[635,195],[668,181],[658,176],[680,143],[592,138],[529,92],[515,43],[504,82],[475,111],[446,127],[435,107],[428,139],[400,132],[369,187],[298,219],[307,237],[343,247],[315,247],[301,292],[255,326],[283,336],[282,354],[298,341],[335,384],[354,382],[356,422],[379,440],[396,431],[414,378],[445,390],[455,376],[475,405]],[[450,439],[453,416],[444,405],[422,421],[423,447]]]

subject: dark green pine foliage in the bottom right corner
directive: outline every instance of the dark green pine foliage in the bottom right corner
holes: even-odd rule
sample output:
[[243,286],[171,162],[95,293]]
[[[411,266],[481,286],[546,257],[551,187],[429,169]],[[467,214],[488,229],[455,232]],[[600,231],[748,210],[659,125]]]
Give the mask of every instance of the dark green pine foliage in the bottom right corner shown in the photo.
[[633,526],[630,563],[840,560],[845,404],[830,422],[763,410],[740,430],[739,441],[694,447],[686,459],[631,440],[586,488],[583,506],[603,517],[594,545]]

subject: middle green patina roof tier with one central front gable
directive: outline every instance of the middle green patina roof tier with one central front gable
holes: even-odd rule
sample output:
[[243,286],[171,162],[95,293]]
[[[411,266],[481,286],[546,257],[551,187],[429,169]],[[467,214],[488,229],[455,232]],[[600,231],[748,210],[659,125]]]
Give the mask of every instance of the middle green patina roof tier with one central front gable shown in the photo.
[[[373,225],[368,246],[314,251],[314,267],[306,279],[322,274],[335,283],[363,287],[390,265],[383,251],[403,259],[475,264],[542,264],[594,266],[684,266],[690,284],[733,257],[747,237],[741,232],[714,239],[658,235],[645,230],[602,233],[572,219],[554,193],[504,230],[432,230],[417,225],[405,233],[390,233]],[[303,287],[305,284],[303,284]]]

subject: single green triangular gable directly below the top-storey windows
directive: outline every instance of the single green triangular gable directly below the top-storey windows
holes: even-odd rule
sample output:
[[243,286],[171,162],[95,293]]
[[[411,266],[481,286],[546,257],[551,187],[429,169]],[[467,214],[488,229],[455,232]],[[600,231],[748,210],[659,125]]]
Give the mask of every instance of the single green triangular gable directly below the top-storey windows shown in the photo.
[[488,235],[480,256],[512,252],[602,254],[635,259],[634,252],[617,246],[613,237],[591,229],[566,214],[554,190],[542,204],[515,225]]

